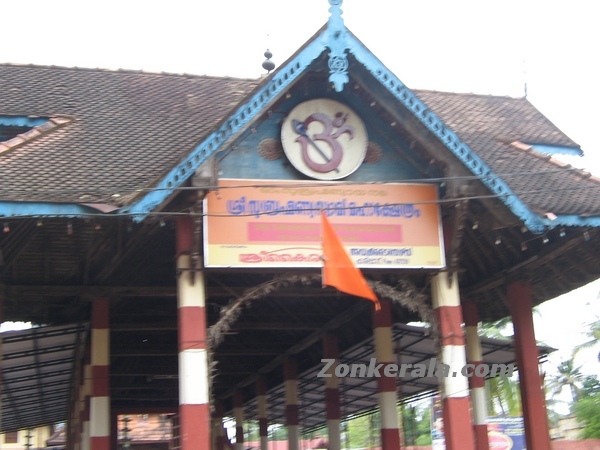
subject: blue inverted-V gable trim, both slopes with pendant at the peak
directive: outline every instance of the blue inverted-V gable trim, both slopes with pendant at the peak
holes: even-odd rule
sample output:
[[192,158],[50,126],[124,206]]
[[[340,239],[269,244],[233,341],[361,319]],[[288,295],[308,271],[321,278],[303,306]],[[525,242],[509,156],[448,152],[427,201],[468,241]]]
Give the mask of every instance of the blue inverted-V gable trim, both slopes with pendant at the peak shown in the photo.
[[[332,17],[334,17],[332,15]],[[338,18],[339,19],[339,18]],[[122,210],[142,221],[154,208],[162,204],[193,172],[224,142],[254,120],[270,102],[274,101],[326,49],[330,50],[330,81],[336,90],[342,90],[348,81],[346,51],[350,52],[401,104],[429,129],[482,183],[519,217],[532,232],[541,233],[548,224],[535,214],[502,181],[468,145],[433,113],[419,97],[377,59],[344,25],[341,20],[328,22],[327,27],[313,36],[299,52],[273,73],[271,78],[241,104],[216,130],[210,133],[184,160],[161,179],[156,189]],[[347,61],[346,61],[347,62]]]

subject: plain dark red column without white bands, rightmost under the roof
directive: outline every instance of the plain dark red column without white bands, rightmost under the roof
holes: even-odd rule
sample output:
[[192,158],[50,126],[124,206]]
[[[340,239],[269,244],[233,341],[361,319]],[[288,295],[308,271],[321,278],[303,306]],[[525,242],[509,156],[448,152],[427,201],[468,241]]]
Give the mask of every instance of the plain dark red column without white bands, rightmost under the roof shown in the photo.
[[508,305],[515,330],[515,352],[519,367],[519,387],[527,448],[550,449],[546,401],[538,364],[533,328],[531,283],[516,281],[508,285]]

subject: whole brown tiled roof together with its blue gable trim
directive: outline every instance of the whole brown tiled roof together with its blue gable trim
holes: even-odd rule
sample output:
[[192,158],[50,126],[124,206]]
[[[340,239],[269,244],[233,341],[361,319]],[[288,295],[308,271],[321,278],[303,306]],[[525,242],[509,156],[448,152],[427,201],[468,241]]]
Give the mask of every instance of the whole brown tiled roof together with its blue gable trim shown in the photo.
[[[329,24],[262,81],[1,66],[8,98],[0,113],[76,118],[0,159],[1,197],[104,203],[141,220],[326,54],[336,90],[352,75],[351,56],[531,230],[600,225],[597,179],[522,150],[522,144],[579,149],[526,99],[412,91],[332,8]],[[542,185],[550,191],[540,191]],[[559,220],[545,220],[547,212]]]

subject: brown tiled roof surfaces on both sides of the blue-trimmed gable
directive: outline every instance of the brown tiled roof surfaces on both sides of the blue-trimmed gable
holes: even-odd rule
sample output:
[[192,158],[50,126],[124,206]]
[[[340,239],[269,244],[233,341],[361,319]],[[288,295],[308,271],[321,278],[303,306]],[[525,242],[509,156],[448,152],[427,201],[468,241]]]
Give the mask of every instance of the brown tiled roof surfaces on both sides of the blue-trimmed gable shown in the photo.
[[[2,148],[0,198],[126,203],[135,190],[153,186],[259,82],[0,65],[0,114],[73,118]],[[597,179],[513,145],[578,147],[526,99],[415,92],[533,211],[599,214]]]

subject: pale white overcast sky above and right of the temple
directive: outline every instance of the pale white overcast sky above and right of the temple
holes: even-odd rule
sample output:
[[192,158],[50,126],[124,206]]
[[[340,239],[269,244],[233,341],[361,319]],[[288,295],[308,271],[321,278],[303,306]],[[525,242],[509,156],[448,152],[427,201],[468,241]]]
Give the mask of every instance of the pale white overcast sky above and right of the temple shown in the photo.
[[[256,78],[267,48],[283,63],[327,22],[328,8],[326,0],[0,0],[0,63]],[[342,9],[350,31],[409,88],[527,92],[581,146],[580,166],[600,175],[596,2],[344,0]],[[600,315],[598,292],[596,282],[540,308],[538,338],[561,349],[553,360],[584,340],[584,322]],[[591,359],[586,371],[600,373]]]

